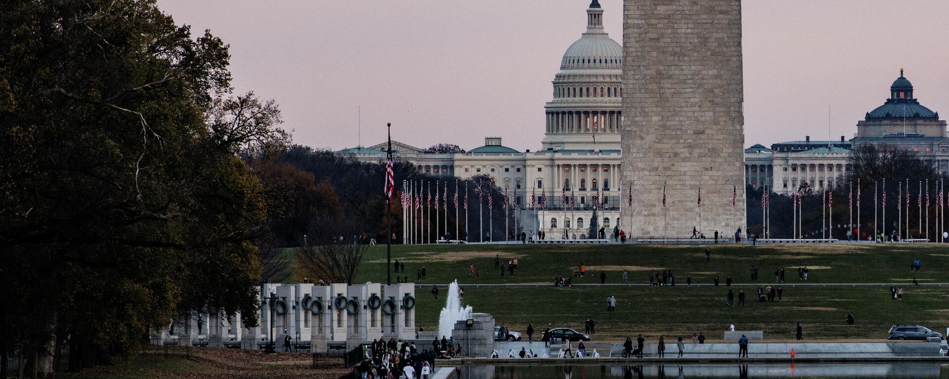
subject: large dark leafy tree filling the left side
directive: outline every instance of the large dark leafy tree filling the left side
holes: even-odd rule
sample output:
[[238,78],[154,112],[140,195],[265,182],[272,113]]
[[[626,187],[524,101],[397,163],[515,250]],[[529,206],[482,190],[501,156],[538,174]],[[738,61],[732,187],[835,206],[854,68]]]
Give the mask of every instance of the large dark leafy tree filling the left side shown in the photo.
[[[151,1],[0,12],[0,350],[108,363],[206,306],[256,322],[264,188],[235,156],[280,151],[279,113],[231,92],[228,45]],[[243,115],[243,116],[238,116]]]

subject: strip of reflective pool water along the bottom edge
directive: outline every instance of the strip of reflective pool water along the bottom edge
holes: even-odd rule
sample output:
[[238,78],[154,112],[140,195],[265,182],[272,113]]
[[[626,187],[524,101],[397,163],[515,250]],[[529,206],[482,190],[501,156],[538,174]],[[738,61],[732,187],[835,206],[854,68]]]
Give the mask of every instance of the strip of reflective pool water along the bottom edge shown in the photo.
[[[599,369],[599,370],[598,370]],[[457,379],[940,378],[939,363],[469,366]]]

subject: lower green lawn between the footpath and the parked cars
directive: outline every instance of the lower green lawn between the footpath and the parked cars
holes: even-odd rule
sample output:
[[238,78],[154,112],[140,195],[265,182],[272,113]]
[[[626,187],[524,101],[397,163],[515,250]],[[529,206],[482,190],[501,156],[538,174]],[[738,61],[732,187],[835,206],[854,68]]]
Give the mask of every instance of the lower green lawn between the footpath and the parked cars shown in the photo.
[[[741,287],[732,287],[737,291]],[[902,300],[891,300],[889,288],[789,287],[783,301],[759,303],[754,288],[744,287],[747,303],[729,307],[728,287],[468,287],[464,302],[474,312],[492,314],[498,325],[524,333],[528,323],[537,335],[548,327],[584,331],[584,320],[596,321],[594,341],[617,341],[643,334],[691,336],[703,332],[720,339],[729,324],[738,330],[762,330],[765,338],[793,339],[796,322],[805,338],[883,339],[894,324],[921,324],[940,333],[949,326],[949,287],[904,287]],[[605,298],[615,296],[617,309],[606,312]],[[437,329],[444,300],[427,291],[417,294],[417,321],[425,330]],[[848,326],[845,314],[856,323]],[[525,334],[526,337],[526,334]],[[686,338],[688,339],[688,338]]]

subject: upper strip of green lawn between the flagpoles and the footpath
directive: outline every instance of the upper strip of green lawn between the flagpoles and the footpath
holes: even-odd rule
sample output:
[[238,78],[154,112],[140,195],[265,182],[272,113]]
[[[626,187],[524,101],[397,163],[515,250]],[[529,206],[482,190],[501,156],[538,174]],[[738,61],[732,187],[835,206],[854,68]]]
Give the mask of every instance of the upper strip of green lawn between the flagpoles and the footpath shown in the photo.
[[[796,282],[797,267],[809,266],[808,282],[949,282],[949,244],[917,245],[780,245],[711,246],[712,259],[705,261],[704,246],[657,245],[396,245],[392,259],[405,263],[405,274],[418,283],[550,283],[569,276],[586,265],[586,278],[575,283],[599,283],[605,271],[607,282],[620,281],[623,269],[629,281],[648,283],[649,274],[671,269],[678,283],[691,276],[695,283],[710,283],[716,275],[724,282],[751,281],[751,267],[759,268],[758,282],[773,282],[776,267],[785,267],[788,282]],[[518,272],[500,278],[494,269],[494,255],[504,262],[518,259]],[[920,259],[922,270],[909,272],[909,263]],[[471,264],[479,278],[468,278]],[[416,279],[416,269],[426,268],[426,279]],[[372,246],[363,259],[356,282],[385,281],[385,246]]]

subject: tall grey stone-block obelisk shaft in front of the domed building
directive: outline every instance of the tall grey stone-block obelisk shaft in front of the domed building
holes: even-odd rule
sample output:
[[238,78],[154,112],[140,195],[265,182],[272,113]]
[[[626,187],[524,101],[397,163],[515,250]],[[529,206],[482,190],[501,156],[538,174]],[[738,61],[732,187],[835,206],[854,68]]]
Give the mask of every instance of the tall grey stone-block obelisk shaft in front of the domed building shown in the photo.
[[741,1],[625,0],[623,60],[627,230],[641,238],[686,238],[693,226],[709,238],[744,232]]

